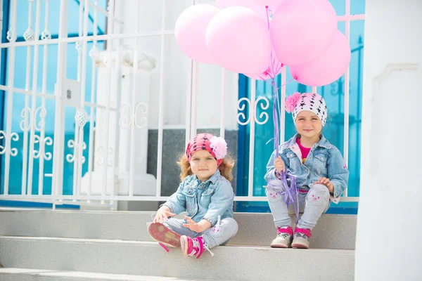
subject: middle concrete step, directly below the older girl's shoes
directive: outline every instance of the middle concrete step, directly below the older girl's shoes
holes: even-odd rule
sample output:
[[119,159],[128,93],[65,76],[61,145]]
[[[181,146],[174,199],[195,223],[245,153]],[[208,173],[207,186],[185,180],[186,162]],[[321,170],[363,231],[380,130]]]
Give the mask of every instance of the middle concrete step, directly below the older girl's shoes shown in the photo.
[[354,250],[224,246],[200,259],[156,242],[0,237],[5,268],[69,270],[216,280],[353,280]]

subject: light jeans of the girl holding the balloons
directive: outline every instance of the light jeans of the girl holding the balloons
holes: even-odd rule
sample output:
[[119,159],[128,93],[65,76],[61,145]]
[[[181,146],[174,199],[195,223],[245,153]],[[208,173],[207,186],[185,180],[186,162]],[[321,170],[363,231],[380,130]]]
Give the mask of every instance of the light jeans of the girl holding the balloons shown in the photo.
[[[309,185],[309,188],[309,192],[299,193],[299,211],[303,214],[298,222],[298,228],[312,230],[321,215],[330,207],[330,192],[325,185],[321,184],[312,184]],[[288,215],[288,207],[283,200],[283,196],[271,189],[267,189],[266,193],[276,227],[291,226],[292,221]]]

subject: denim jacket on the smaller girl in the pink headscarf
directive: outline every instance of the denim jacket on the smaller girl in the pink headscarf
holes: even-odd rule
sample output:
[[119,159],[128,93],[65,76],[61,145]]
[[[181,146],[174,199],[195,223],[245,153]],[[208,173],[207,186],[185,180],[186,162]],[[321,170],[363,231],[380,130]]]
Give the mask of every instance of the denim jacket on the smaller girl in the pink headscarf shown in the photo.
[[219,170],[207,181],[200,183],[196,175],[187,176],[164,206],[174,214],[187,211],[197,223],[206,219],[212,226],[221,218],[233,218],[234,192],[229,181]]

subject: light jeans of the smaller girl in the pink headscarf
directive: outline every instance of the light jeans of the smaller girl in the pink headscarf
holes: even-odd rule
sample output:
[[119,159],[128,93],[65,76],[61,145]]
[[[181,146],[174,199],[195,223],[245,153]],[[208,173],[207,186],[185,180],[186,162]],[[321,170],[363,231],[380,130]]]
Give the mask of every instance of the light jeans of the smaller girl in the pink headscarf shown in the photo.
[[184,223],[184,219],[170,218],[163,224],[180,235],[186,235],[191,238],[202,235],[205,243],[208,244],[208,248],[210,249],[215,246],[227,244],[238,231],[238,224],[234,218],[223,218],[220,222],[217,222],[215,226],[208,228],[203,233],[196,233],[189,228],[185,228],[183,226]]

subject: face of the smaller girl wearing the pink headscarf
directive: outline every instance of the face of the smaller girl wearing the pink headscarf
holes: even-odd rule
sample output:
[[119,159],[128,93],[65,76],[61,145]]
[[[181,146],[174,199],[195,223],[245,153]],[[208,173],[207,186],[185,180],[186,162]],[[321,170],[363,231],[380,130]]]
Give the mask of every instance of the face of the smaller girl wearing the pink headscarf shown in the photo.
[[198,150],[191,157],[191,170],[202,183],[217,171],[217,160],[207,150]]

